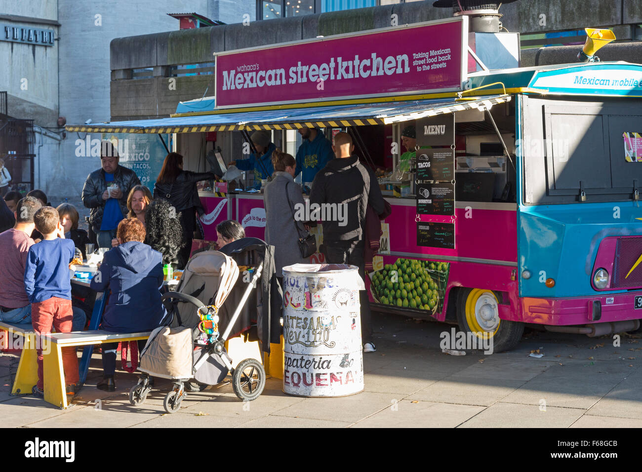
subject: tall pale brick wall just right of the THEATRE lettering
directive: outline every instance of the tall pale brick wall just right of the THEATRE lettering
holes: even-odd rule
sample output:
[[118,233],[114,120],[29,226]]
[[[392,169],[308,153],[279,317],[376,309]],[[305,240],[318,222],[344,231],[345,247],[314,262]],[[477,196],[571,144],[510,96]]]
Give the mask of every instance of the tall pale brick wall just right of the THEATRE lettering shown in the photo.
[[[50,2],[55,3],[55,2]],[[112,39],[178,30],[167,13],[206,15],[208,0],[58,0],[60,22],[60,114],[67,123],[110,119],[110,49]],[[139,67],[146,65],[139,64]],[[138,67],[137,66],[137,67]],[[139,82],[139,81],[136,81]],[[138,85],[138,84],[137,84]],[[141,98],[150,89],[137,87]],[[156,93],[155,90],[151,90]],[[145,110],[145,113],[157,110]],[[100,135],[92,135],[100,138]],[[76,157],[76,139],[69,133],[56,159],[41,161],[45,191],[56,197],[80,195],[87,174],[100,166],[96,157]],[[67,192],[73,195],[57,195]]]

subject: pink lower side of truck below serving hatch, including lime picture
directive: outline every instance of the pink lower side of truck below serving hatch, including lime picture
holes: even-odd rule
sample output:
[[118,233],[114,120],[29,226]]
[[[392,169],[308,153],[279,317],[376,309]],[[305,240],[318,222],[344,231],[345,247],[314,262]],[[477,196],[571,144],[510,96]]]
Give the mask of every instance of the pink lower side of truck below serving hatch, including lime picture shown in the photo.
[[[216,224],[227,219],[241,223],[247,236],[265,238],[262,193],[228,193],[225,197],[216,197],[213,193],[201,192],[200,197],[206,211],[200,218],[205,247],[214,248]],[[379,253],[374,258],[372,272],[366,277],[370,301],[392,310],[413,311],[416,317],[444,319],[449,282],[481,277],[483,274],[478,272],[487,270],[488,265],[505,273],[504,280],[512,278],[516,262],[511,256],[517,252],[517,241],[512,237],[516,231],[516,204],[456,202],[454,218],[431,216],[427,221],[425,215],[417,214],[415,197],[384,198],[392,207],[392,213],[381,222]],[[439,225],[451,228],[449,241],[453,247],[435,247],[434,240],[426,243],[418,237],[418,233],[429,228],[440,238]],[[320,247],[322,225],[317,225],[313,232]],[[470,241],[471,238],[474,241]],[[310,262],[324,263],[325,258],[323,254],[313,254]],[[392,270],[396,271],[394,275]]]

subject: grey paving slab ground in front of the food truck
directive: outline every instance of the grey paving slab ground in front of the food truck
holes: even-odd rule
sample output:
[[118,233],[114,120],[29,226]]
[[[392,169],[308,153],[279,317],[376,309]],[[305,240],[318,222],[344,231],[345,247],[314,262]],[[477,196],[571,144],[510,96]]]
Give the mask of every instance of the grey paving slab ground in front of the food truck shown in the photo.
[[[87,383],[60,410],[32,396],[10,395],[9,365],[0,354],[0,418],[4,427],[74,428],[381,428],[642,426],[642,341],[526,329],[516,349],[485,355],[444,354],[440,334],[452,326],[374,313],[377,351],[363,355],[365,388],[342,398],[300,398],[268,378],[263,394],[240,401],[229,381],[187,395],[166,414],[171,382],[157,379],[143,405],[132,406],[136,374],[118,371],[116,392],[102,392],[100,355]],[[615,343],[617,344],[617,342]],[[639,349],[639,351],[638,351]],[[542,358],[530,357],[539,350]],[[228,378],[229,380],[229,378]]]

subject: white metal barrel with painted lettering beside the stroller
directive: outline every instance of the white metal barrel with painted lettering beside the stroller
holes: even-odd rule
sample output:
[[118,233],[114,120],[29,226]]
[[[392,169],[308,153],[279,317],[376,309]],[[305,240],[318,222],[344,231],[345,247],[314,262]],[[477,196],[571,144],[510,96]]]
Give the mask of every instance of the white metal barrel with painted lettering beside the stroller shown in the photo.
[[358,268],[295,264],[283,268],[283,391],[338,397],[363,390]]

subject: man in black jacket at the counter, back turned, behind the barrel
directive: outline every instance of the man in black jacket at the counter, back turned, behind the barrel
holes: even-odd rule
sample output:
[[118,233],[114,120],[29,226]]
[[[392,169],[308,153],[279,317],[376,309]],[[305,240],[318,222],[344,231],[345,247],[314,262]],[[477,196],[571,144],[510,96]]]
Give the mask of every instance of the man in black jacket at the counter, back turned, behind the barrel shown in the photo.
[[[363,249],[365,245],[365,215],[368,205],[375,213],[385,211],[385,203],[374,172],[352,155],[354,145],[347,133],[334,136],[334,155],[319,171],[312,184],[312,204],[336,204],[336,221],[323,222],[321,247],[328,263],[351,264],[359,267],[359,275],[365,280]],[[339,216],[343,215],[343,218]],[[347,217],[346,217],[347,216]],[[370,326],[370,302],[365,290],[360,293],[361,340],[363,352],[372,353],[376,348],[372,342]]]

